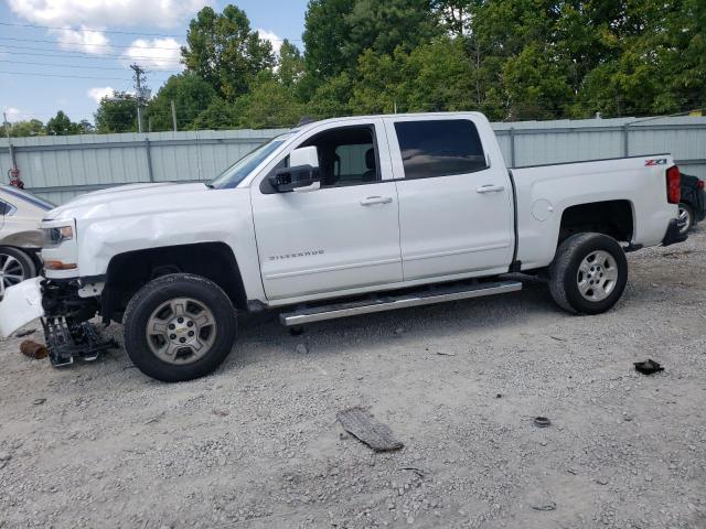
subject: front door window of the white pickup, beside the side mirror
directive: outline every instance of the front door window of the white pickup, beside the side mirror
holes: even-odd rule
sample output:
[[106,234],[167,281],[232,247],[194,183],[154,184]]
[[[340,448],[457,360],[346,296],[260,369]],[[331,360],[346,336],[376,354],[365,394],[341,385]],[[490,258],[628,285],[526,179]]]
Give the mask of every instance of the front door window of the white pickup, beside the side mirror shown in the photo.
[[343,127],[321,132],[301,147],[319,151],[321,187],[360,185],[381,180],[373,126]]

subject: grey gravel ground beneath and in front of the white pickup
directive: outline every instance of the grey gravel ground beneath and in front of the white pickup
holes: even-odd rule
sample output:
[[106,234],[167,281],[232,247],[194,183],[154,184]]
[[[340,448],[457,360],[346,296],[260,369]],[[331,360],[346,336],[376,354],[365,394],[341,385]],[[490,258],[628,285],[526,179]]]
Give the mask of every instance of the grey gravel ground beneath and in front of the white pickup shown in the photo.
[[[630,255],[592,317],[528,284],[299,337],[242,321],[225,365],[179,385],[7,339],[0,527],[706,528],[705,257],[703,228]],[[346,435],[353,406],[405,447]]]

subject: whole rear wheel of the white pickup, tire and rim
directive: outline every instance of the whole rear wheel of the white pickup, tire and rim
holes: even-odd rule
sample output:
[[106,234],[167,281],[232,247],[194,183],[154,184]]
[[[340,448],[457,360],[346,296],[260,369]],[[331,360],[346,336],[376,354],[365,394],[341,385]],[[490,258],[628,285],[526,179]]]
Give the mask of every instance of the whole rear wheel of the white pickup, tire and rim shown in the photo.
[[600,314],[620,300],[628,259],[612,237],[578,234],[561,242],[549,267],[549,292],[561,309]]

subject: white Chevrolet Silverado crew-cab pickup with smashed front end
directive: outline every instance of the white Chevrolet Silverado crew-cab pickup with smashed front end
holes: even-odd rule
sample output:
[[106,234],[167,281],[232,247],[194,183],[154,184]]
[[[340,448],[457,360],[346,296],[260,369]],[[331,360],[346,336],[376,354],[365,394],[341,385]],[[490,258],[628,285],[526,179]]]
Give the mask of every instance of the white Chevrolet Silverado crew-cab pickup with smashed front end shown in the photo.
[[124,323],[145,374],[179,381],[224,360],[238,311],[280,310],[296,328],[516,291],[509,273],[523,272],[596,314],[623,292],[625,251],[686,238],[678,203],[668,154],[510,171],[475,112],[311,122],[211,184],[127,185],[50,212],[45,279],[8,289],[0,331],[43,316],[61,365],[109,345],[87,323],[99,314]]

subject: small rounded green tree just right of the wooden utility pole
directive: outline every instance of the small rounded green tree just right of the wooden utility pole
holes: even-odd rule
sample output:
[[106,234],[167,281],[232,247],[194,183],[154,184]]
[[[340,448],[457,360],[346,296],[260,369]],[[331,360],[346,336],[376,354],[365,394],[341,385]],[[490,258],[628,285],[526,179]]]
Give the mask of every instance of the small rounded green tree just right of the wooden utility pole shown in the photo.
[[147,106],[152,130],[172,130],[172,108],[176,109],[176,126],[181,130],[193,128],[194,119],[203,112],[216,97],[216,91],[193,72],[172,75]]

